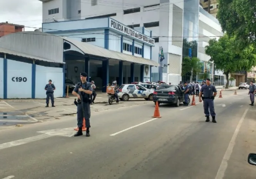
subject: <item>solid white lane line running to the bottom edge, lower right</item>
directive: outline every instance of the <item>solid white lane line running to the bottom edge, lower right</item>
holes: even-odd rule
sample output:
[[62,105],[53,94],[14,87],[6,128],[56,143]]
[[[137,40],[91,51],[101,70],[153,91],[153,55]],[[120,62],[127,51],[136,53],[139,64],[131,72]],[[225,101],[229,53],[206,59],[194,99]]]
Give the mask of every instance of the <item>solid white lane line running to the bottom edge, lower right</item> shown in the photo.
[[244,121],[244,117],[246,116],[247,112],[248,112],[248,109],[246,109],[244,111],[244,114],[243,114],[242,118],[239,120],[239,123],[236,126],[236,130],[234,131],[234,134],[233,134],[233,136],[231,138],[231,141],[230,141],[230,143],[228,145],[228,148],[227,148],[227,150],[226,150],[226,152],[224,154],[224,157],[223,157],[223,159],[221,161],[221,165],[219,166],[219,170],[217,172],[217,175],[216,175],[215,179],[223,179],[223,177],[224,177],[225,171],[226,171],[226,169],[228,167],[229,158],[230,158],[230,156],[231,156],[231,154],[233,152],[234,145],[236,144],[236,137],[238,136],[239,130],[241,128],[241,125],[242,125],[242,123]]

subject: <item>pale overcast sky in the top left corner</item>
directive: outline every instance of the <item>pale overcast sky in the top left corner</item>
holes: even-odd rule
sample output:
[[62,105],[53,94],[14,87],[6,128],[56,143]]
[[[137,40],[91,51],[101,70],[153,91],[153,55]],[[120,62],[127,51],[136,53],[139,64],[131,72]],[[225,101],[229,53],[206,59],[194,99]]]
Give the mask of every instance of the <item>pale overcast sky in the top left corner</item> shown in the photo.
[[42,2],[39,0],[0,0],[0,22],[25,25],[25,31],[42,27]]

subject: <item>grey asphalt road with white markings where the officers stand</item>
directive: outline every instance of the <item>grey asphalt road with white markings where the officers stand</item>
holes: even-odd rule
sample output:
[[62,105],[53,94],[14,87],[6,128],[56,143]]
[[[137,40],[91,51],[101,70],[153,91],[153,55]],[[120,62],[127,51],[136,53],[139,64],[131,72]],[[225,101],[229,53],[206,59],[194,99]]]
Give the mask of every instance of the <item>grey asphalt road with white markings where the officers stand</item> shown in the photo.
[[202,103],[152,118],[152,102],[95,113],[89,138],[71,136],[72,116],[0,131],[0,179],[255,179],[256,107],[233,93],[214,101],[217,123]]

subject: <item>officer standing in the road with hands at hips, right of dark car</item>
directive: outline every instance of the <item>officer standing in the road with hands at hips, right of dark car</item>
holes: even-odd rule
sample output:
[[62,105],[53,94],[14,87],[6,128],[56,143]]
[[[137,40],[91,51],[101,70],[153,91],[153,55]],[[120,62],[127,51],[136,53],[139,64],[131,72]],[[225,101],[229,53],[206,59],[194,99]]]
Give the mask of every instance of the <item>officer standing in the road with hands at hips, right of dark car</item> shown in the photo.
[[[203,96],[202,96],[202,93],[203,93]],[[211,85],[211,80],[209,78],[206,78],[206,85],[202,86],[199,93],[199,102],[202,102],[202,100],[204,101],[204,114],[206,117],[206,122],[210,121],[209,116],[211,113],[212,123],[216,123],[216,119],[215,119],[216,114],[214,111],[214,103],[213,103],[213,100],[216,95],[217,95],[217,90],[215,86]],[[210,109],[210,113],[209,113],[209,109]]]

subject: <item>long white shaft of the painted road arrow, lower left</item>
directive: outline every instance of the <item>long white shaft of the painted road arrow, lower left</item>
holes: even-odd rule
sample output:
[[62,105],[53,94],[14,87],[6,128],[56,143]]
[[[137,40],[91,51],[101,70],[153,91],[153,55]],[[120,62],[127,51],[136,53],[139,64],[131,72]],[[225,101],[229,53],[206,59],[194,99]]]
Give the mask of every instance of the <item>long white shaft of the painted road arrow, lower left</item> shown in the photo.
[[39,136],[33,136],[33,137],[30,137],[30,138],[25,138],[25,139],[20,139],[20,140],[17,140],[17,141],[3,143],[3,144],[0,144],[0,150],[10,148],[10,147],[13,147],[13,146],[19,146],[19,145],[22,145],[22,144],[27,144],[27,143],[30,143],[30,142],[33,142],[33,141],[38,141],[38,140],[46,139],[46,138],[50,138],[50,137],[52,137],[52,136],[50,136],[48,134],[42,134],[42,135],[39,135]]

